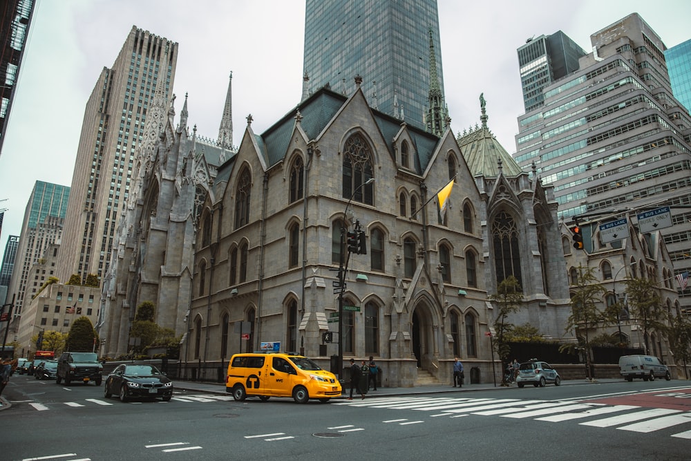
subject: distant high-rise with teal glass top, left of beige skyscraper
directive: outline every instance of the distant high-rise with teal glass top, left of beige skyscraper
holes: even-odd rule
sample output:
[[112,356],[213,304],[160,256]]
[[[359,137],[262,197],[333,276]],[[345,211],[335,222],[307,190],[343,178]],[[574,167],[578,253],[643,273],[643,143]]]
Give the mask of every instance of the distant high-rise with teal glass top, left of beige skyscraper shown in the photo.
[[[41,275],[32,274],[31,267],[44,257],[46,248],[59,243],[62,236],[70,188],[50,182],[36,181],[24,211],[15,267],[8,286],[8,298],[15,295],[12,312],[21,314],[21,306],[41,288]],[[55,272],[55,267],[52,269]]]

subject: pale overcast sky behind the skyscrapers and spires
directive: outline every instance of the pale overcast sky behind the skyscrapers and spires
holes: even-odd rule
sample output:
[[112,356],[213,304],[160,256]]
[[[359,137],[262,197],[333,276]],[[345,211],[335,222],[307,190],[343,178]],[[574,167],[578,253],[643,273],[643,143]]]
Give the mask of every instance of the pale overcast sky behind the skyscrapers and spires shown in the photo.
[[[691,39],[688,0],[439,0],[444,91],[455,133],[480,120],[515,151],[524,113],[516,48],[562,30],[591,50],[591,33],[638,12],[668,48]],[[261,133],[299,103],[304,0],[37,0],[17,96],[0,155],[0,261],[19,235],[37,180],[71,185],[84,106],[132,26],[177,41],[176,110],[189,93],[189,126],[218,136],[233,72],[234,144],[252,113]],[[367,76],[363,75],[366,79]]]

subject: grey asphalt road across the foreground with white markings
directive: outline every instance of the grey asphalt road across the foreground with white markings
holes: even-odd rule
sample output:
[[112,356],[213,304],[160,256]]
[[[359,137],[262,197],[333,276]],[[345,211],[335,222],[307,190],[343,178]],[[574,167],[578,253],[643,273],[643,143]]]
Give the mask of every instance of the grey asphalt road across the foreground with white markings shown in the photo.
[[106,399],[103,386],[15,375],[0,411],[3,460],[691,458],[686,381],[234,402]]

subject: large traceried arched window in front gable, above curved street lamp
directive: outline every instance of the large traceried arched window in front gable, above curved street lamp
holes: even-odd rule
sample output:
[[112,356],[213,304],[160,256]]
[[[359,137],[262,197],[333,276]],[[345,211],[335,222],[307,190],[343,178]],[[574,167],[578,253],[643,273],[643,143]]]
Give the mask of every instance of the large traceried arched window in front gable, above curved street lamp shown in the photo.
[[374,187],[364,185],[372,176],[372,155],[367,142],[359,134],[345,140],[343,149],[343,198],[366,205],[374,203]]

